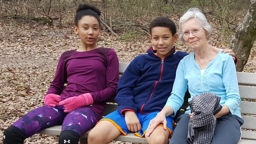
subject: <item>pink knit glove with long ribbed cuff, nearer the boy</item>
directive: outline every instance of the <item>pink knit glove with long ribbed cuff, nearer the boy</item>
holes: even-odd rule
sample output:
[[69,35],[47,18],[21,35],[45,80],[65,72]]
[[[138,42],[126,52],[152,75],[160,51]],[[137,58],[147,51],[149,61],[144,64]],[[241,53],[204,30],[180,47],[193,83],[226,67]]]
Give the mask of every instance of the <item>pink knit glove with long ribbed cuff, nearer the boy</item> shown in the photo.
[[79,96],[74,96],[59,102],[59,105],[64,106],[64,112],[71,112],[79,107],[93,104],[93,97],[90,93],[85,93]]

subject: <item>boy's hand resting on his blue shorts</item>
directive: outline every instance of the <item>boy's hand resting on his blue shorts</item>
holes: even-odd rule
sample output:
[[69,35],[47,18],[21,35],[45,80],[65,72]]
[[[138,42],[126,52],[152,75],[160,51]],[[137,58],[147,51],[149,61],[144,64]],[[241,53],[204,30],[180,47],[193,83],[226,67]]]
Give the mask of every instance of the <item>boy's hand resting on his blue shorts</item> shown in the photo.
[[125,111],[125,123],[128,130],[131,132],[138,132],[141,130],[140,121],[137,115],[132,111]]

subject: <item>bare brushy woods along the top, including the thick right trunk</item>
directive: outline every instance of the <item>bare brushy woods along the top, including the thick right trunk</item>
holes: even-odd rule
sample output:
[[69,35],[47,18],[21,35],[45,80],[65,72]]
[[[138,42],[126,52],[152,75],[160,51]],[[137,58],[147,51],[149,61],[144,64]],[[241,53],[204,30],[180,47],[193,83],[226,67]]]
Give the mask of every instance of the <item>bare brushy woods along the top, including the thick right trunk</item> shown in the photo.
[[[60,28],[73,25],[73,13],[79,3],[101,9],[107,32],[122,40],[148,35],[148,23],[157,16],[178,20],[186,9],[199,7],[207,18],[217,20],[218,43],[230,43],[239,58],[242,71],[256,39],[256,0],[0,0],[0,19],[15,18]],[[247,14],[246,14],[247,13]],[[246,14],[240,26],[237,21]],[[232,33],[232,34],[231,34]],[[213,43],[218,44],[217,40]],[[219,45],[219,44],[218,44]]]

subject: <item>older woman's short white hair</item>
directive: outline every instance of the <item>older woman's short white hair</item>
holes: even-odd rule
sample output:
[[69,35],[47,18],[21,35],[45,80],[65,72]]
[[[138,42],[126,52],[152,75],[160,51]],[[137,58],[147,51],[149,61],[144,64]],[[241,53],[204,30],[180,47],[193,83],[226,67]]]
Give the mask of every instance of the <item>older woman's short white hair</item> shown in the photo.
[[212,27],[207,22],[207,19],[204,16],[204,14],[198,8],[190,8],[185,14],[183,14],[182,17],[180,17],[179,31],[178,31],[180,41],[185,43],[185,40],[183,39],[183,36],[182,36],[182,31],[183,31],[182,24],[191,18],[195,18],[195,20],[197,20],[198,23],[201,24],[204,31],[206,32],[206,37],[208,39],[209,36],[212,35]]

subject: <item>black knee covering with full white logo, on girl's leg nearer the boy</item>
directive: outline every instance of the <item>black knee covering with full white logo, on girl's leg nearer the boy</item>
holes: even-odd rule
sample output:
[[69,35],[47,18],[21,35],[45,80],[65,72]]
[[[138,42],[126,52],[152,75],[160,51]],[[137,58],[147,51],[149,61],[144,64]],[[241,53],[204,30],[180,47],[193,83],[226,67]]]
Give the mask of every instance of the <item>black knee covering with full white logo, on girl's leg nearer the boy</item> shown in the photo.
[[79,134],[72,130],[64,130],[59,136],[59,144],[78,144]]

